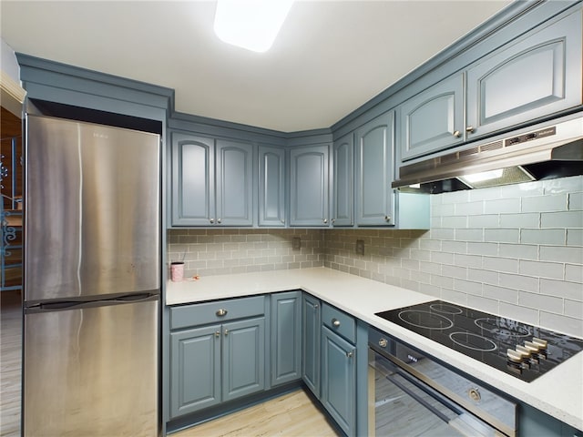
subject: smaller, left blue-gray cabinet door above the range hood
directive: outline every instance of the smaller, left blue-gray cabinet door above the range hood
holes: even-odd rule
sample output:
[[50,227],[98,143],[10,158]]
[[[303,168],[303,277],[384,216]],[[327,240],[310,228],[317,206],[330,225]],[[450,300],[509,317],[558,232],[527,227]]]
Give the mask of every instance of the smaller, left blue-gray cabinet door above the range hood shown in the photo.
[[451,76],[400,107],[401,160],[416,158],[464,141],[464,75]]

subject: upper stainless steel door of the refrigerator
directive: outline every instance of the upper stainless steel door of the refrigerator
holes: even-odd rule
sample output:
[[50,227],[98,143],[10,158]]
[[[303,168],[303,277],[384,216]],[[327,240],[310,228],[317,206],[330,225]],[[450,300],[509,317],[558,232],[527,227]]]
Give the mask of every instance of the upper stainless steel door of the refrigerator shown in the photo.
[[26,120],[25,300],[159,290],[159,136]]

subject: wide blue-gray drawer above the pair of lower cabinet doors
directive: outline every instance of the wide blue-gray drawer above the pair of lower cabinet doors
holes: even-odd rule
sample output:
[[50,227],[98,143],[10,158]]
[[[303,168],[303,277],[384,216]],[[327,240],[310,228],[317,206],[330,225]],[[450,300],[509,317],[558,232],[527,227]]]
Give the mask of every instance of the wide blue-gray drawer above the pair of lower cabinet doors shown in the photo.
[[[221,316],[220,313],[223,313]],[[205,325],[225,320],[261,316],[265,313],[265,297],[216,300],[170,309],[170,329]]]

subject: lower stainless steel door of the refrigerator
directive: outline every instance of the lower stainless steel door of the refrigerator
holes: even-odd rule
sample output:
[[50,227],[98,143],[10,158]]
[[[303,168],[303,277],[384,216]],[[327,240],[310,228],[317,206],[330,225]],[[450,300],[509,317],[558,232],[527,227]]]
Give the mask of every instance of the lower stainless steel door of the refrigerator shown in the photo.
[[159,297],[25,315],[23,435],[159,435]]

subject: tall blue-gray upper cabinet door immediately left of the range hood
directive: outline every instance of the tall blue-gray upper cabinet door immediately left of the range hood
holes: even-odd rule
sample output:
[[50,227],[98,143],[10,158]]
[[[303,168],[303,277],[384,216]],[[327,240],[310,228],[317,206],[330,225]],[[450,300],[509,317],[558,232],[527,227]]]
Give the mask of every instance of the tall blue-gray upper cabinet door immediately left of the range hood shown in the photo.
[[394,112],[389,111],[355,132],[354,203],[358,226],[394,225]]

